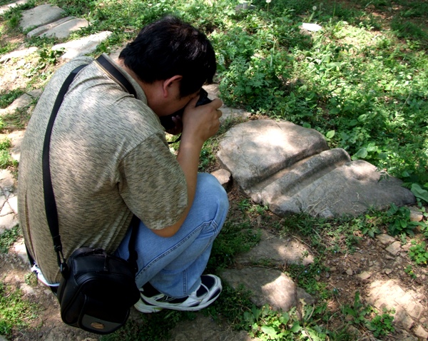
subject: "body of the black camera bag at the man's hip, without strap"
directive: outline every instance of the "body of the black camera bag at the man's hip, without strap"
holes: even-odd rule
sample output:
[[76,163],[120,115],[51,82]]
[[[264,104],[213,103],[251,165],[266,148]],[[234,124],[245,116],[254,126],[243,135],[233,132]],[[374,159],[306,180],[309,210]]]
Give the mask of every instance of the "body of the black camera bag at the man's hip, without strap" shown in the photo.
[[131,265],[93,248],[78,248],[67,265],[57,292],[63,322],[98,334],[121,327],[140,297]]

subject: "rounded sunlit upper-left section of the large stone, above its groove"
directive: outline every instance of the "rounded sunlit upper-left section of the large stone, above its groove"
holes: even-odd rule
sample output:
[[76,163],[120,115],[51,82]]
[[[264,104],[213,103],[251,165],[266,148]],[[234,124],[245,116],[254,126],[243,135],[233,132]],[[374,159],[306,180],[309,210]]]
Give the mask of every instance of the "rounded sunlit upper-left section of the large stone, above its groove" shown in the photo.
[[327,150],[325,138],[290,122],[248,121],[234,126],[220,142],[218,159],[243,190],[298,161]]

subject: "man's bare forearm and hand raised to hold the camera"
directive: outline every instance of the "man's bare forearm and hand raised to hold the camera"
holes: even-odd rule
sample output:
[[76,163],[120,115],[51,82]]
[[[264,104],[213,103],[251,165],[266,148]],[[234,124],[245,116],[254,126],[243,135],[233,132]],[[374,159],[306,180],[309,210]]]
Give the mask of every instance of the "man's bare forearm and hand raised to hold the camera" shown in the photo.
[[194,98],[185,109],[183,133],[177,155],[187,183],[188,205],[177,223],[161,230],[152,230],[161,237],[172,237],[183,225],[195,198],[200,151],[203,143],[217,133],[220,126],[219,118],[222,113],[218,108],[222,106],[222,101],[217,98],[205,106],[195,107],[197,100],[198,98]]

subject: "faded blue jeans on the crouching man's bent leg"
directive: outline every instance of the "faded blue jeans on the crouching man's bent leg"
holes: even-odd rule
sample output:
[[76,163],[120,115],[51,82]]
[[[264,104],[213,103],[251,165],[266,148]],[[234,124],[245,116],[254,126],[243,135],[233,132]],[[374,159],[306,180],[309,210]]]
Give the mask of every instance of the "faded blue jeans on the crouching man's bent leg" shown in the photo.
[[[196,290],[228,208],[228,195],[218,180],[208,173],[199,173],[193,205],[175,235],[159,237],[141,222],[136,238],[137,286],[150,282],[163,294],[175,298]],[[118,257],[128,259],[130,235],[128,230],[116,250]]]

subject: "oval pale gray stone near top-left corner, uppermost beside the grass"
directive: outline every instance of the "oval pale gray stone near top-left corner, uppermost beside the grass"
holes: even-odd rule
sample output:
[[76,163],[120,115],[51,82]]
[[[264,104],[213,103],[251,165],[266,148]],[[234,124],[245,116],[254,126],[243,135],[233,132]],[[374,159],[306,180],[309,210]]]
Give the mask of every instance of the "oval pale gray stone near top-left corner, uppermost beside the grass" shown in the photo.
[[26,31],[31,27],[39,27],[57,21],[61,19],[65,13],[66,11],[60,9],[58,6],[48,4],[40,5],[34,9],[23,11],[19,26]]

